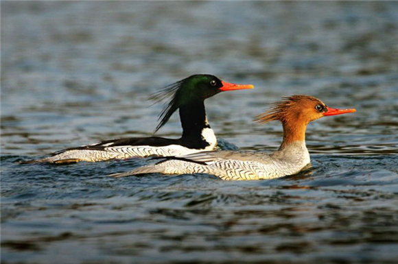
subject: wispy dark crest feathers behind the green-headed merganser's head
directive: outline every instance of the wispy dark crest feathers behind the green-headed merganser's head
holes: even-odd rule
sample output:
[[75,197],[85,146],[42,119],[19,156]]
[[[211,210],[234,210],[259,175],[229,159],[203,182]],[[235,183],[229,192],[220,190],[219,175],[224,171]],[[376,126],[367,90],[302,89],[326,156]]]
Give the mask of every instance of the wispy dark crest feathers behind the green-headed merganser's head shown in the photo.
[[159,115],[159,124],[156,126],[156,129],[154,130],[154,132],[158,131],[161,127],[163,127],[163,125],[165,125],[165,123],[167,123],[167,121],[169,121],[169,118],[173,115],[173,113],[178,109],[178,101],[176,98],[178,89],[180,88],[181,84],[185,81],[184,80],[180,80],[179,82],[176,82],[174,84],[170,84],[168,86],[165,86],[165,88],[163,88],[161,91],[158,91],[156,93],[153,93],[150,96],[150,100],[155,101],[155,103],[158,103],[160,101],[166,101],[164,104],[164,108],[162,110],[162,112]]

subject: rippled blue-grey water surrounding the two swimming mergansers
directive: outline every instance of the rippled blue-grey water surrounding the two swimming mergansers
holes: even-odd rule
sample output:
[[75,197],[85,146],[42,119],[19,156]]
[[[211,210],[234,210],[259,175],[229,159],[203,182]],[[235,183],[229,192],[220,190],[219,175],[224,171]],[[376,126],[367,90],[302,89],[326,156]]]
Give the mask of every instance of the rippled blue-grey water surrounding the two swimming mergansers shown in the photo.
[[[1,263],[396,263],[397,29],[384,1],[2,1]],[[150,135],[148,95],[194,73],[255,84],[207,100],[242,149],[279,146],[253,117],[282,96],[358,112],[309,125],[312,168],[276,180],[16,163]]]

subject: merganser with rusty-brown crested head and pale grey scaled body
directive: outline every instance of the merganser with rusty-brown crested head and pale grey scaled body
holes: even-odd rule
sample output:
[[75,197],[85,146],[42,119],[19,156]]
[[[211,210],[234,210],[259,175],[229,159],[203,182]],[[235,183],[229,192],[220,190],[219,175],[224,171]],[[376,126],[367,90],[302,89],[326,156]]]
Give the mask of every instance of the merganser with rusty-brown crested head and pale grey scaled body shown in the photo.
[[211,151],[168,157],[155,165],[146,165],[115,178],[142,173],[208,173],[222,180],[261,180],[298,173],[310,160],[305,146],[305,130],[309,122],[331,115],[355,112],[355,109],[336,109],[308,95],[284,97],[270,110],[257,117],[257,122],[279,120],[283,126],[283,141],[276,152],[265,154],[250,151]]

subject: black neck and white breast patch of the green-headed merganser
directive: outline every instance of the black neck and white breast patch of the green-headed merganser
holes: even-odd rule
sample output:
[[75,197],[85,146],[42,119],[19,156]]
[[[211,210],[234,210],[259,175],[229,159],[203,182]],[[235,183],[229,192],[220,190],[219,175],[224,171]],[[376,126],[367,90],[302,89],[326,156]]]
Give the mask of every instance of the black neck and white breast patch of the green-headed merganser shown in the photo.
[[180,106],[179,111],[183,127],[183,136],[181,136],[183,142],[193,148],[204,148],[215,144],[216,139],[207,122],[203,101]]

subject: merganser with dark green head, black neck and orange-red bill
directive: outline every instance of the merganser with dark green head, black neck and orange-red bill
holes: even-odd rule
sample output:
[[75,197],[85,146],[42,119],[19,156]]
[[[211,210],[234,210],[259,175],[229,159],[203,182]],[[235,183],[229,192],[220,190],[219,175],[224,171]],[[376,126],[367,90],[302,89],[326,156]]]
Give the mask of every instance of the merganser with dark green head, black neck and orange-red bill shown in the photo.
[[178,156],[215,149],[217,138],[210,128],[204,109],[204,99],[222,91],[254,88],[251,84],[224,82],[213,75],[191,75],[166,86],[152,96],[155,101],[169,99],[159,115],[159,130],[178,109],[183,135],[180,139],[165,139],[158,136],[111,139],[71,147],[55,152],[48,158],[23,163],[77,163],[79,161],[102,161],[147,156]]

